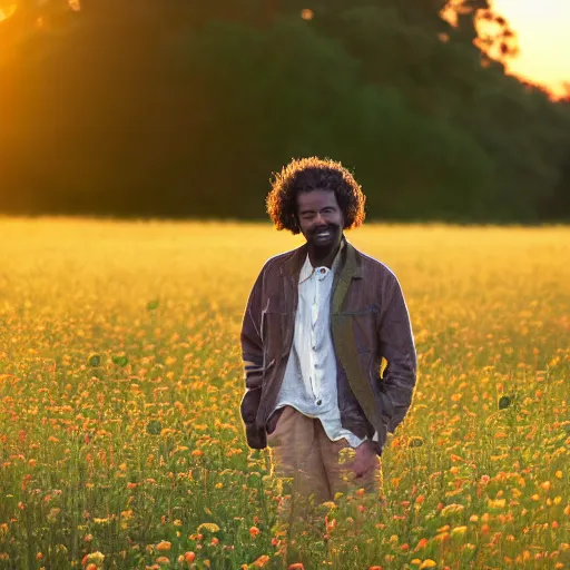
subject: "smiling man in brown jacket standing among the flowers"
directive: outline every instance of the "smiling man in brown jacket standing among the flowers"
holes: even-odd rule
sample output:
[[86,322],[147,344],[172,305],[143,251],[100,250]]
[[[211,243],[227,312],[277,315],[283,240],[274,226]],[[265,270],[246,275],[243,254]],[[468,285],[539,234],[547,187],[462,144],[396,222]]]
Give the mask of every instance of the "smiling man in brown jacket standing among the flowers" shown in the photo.
[[332,160],[293,160],[276,176],[268,214],[306,244],[265,264],[242,327],[248,445],[268,445],[276,473],[318,502],[345,492],[347,475],[376,489],[386,435],[415,385],[400,284],[343,234],[363,223],[364,204],[353,176]]

